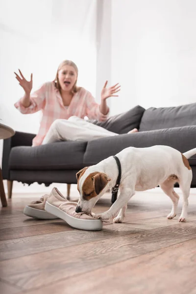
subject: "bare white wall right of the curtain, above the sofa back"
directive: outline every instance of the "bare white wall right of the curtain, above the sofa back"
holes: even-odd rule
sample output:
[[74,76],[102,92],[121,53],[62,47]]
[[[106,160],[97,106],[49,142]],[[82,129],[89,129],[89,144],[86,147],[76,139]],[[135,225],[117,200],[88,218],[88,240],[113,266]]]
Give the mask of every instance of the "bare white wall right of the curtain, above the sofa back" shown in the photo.
[[[196,102],[196,1],[112,0],[111,113]],[[111,99],[111,98],[110,98]]]

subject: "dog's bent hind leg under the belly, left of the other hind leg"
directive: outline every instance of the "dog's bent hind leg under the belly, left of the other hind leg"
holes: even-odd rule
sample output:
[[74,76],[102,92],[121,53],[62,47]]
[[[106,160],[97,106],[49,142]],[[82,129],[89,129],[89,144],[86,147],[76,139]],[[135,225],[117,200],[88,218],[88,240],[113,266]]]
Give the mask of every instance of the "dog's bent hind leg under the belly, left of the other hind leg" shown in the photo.
[[169,178],[165,182],[163,182],[162,184],[160,184],[160,188],[172,200],[172,211],[167,216],[167,218],[170,219],[170,220],[173,219],[176,216],[176,213],[177,213],[177,205],[178,205],[178,200],[179,200],[179,196],[173,190],[173,185],[175,184],[175,182],[176,182],[176,179]]

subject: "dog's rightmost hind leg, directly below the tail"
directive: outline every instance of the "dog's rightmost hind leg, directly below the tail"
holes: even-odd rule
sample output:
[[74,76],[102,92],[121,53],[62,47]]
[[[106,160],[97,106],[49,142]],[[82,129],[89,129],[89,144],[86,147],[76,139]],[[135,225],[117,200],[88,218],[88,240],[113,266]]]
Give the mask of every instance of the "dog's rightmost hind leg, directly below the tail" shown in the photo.
[[188,205],[189,205],[188,197],[190,194],[191,181],[192,181],[192,171],[190,170],[188,173],[188,176],[185,178],[182,178],[179,182],[179,186],[183,195],[182,212],[178,219],[179,222],[184,222],[186,221],[186,218],[187,218],[187,211],[188,211]]

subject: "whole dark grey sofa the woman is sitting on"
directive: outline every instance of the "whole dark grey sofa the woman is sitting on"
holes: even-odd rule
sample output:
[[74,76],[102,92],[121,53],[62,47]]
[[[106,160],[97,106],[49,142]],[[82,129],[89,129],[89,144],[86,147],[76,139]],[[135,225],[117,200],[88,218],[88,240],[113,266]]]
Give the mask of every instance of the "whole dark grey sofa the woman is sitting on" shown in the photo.
[[[53,182],[75,184],[78,170],[129,146],[168,145],[180,152],[196,147],[196,103],[147,110],[138,105],[106,122],[90,122],[120,135],[89,142],[67,141],[31,147],[35,135],[16,132],[3,142],[3,179],[9,183],[15,180],[47,186]],[[127,134],[135,127],[138,133]],[[196,156],[189,162],[193,170],[192,187],[196,187]]]

